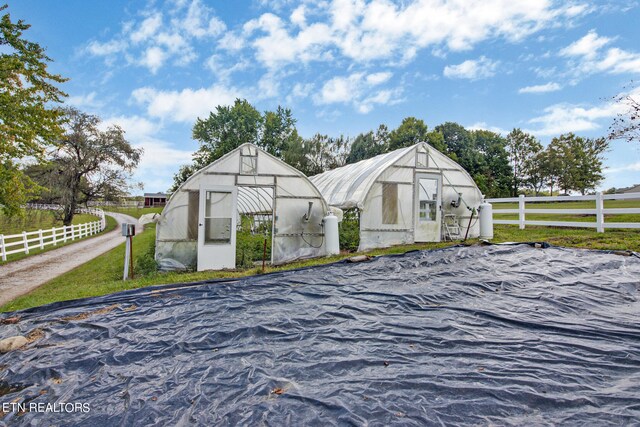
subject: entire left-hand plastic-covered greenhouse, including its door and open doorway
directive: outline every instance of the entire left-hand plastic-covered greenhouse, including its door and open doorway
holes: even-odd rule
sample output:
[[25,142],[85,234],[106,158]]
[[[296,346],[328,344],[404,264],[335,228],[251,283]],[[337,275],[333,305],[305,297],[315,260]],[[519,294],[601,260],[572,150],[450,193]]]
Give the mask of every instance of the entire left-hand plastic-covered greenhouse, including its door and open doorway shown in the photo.
[[235,268],[325,255],[327,204],[297,169],[244,144],[187,179],[156,229],[165,270]]

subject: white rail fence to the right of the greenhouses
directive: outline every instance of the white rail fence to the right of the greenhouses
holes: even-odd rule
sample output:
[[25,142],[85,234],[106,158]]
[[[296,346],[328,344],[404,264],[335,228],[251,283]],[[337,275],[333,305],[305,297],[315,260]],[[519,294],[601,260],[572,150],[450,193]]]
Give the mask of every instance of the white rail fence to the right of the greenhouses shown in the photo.
[[[605,228],[640,228],[640,222],[605,222],[605,215],[640,214],[638,208],[605,208],[605,200],[640,200],[640,193],[627,194],[602,194],[600,192],[590,196],[540,196],[540,197],[508,197],[502,199],[487,199],[487,202],[496,203],[518,203],[518,209],[493,209],[493,214],[518,214],[518,219],[494,219],[494,224],[518,225],[521,230],[527,225],[542,225],[552,227],[590,227],[595,228],[599,233],[603,233]],[[527,209],[527,202],[576,202],[582,200],[595,201],[595,209]],[[560,205],[561,206],[561,205]],[[640,202],[639,202],[640,206]],[[530,221],[526,219],[526,214],[576,214],[595,215],[595,222],[579,221]]]

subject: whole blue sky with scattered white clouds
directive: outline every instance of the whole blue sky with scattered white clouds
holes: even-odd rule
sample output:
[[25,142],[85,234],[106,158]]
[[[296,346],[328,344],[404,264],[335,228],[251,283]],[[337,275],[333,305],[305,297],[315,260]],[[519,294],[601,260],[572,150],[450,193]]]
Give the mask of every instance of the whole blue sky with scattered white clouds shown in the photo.
[[[543,144],[607,135],[640,77],[636,0],[9,1],[69,78],[66,104],[144,148],[134,179],[168,189],[195,120],[247,99],[303,137],[414,116]],[[6,12],[6,11],[5,11]],[[640,183],[640,142],[612,141],[601,189]]]

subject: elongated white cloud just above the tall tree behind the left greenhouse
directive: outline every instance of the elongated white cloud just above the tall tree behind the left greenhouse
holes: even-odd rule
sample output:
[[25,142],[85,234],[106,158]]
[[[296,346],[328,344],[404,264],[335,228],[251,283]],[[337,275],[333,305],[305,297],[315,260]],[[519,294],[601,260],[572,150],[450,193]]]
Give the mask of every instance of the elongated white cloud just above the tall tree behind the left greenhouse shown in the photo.
[[150,116],[186,123],[193,123],[196,118],[207,116],[218,105],[230,105],[236,98],[245,96],[238,89],[222,85],[181,91],[143,87],[132,93],[133,100],[145,105]]

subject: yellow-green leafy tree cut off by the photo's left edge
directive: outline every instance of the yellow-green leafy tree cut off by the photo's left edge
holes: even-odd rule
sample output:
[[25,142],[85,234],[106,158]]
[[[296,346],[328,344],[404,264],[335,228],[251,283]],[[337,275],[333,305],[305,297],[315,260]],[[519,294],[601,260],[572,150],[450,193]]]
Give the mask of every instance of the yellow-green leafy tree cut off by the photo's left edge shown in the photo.
[[67,79],[49,73],[51,58],[22,37],[29,27],[22,20],[12,22],[9,13],[0,19],[0,206],[9,215],[18,213],[36,189],[16,160],[42,159],[62,134],[62,113],[53,104],[66,96],[55,84]]

